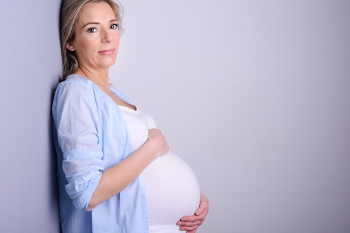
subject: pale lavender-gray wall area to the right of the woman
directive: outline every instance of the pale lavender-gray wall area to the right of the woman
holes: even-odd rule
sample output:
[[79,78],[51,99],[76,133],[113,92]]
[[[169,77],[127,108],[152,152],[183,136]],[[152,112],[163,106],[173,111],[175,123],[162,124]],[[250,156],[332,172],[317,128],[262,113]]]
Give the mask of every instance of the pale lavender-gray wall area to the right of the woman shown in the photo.
[[350,232],[350,1],[122,3],[110,79],[197,174],[197,232]]

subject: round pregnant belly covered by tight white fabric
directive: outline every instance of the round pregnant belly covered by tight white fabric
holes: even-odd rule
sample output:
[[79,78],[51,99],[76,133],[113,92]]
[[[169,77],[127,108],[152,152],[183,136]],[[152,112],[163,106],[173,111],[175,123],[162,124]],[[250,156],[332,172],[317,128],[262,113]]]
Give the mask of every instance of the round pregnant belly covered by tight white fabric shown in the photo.
[[140,176],[146,187],[150,226],[175,225],[197,210],[200,185],[191,168],[176,154],[159,156]]

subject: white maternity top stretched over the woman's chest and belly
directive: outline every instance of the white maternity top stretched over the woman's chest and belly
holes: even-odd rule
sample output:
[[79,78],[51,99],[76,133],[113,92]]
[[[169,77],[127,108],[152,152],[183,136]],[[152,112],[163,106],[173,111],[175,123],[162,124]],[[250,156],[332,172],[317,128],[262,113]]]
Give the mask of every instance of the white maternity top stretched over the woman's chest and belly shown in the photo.
[[[148,129],[156,128],[153,117],[119,106],[133,143],[133,151],[148,139]],[[140,175],[146,187],[150,232],[180,232],[176,225],[183,216],[193,215],[200,204],[200,185],[191,168],[176,154],[157,157]]]

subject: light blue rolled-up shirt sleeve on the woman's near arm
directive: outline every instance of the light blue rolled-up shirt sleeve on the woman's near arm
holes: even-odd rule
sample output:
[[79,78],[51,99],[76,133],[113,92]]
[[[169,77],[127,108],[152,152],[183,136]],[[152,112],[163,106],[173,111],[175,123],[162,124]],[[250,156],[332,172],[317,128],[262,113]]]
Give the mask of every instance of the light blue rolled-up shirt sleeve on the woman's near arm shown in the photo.
[[73,205],[86,210],[104,170],[99,121],[91,89],[79,82],[60,83],[52,108],[63,154],[65,186]]

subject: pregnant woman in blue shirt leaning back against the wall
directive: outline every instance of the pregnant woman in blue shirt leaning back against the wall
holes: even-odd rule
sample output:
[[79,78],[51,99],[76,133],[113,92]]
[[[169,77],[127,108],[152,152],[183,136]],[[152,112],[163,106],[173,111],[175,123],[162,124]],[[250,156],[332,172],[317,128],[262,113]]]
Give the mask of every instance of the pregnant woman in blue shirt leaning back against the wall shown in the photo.
[[63,75],[52,103],[65,232],[195,232],[208,212],[191,168],[155,121],[108,84],[120,8],[64,0]]

